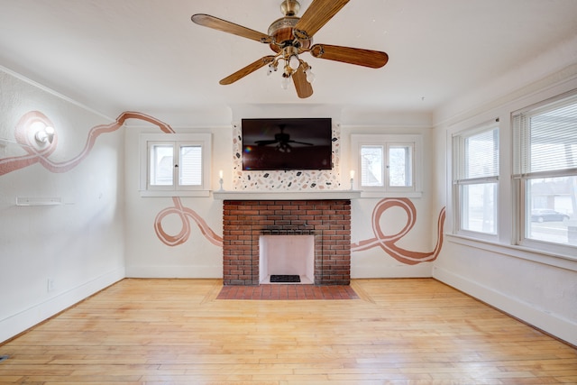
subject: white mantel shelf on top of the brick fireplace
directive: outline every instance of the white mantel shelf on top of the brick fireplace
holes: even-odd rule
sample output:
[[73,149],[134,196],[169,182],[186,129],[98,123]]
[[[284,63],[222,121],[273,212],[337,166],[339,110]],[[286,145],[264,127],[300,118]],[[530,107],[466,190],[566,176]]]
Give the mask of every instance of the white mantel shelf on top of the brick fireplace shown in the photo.
[[325,191],[213,191],[215,199],[222,200],[324,200],[355,199],[361,197],[357,190]]

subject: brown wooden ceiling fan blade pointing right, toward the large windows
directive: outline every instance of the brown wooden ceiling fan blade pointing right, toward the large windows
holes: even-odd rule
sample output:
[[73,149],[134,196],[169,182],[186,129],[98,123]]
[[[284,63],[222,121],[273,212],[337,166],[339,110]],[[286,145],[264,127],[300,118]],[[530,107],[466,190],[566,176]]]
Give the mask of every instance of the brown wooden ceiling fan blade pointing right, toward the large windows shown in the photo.
[[363,50],[337,45],[315,44],[310,48],[310,53],[315,58],[342,61],[371,69],[380,69],[389,61],[389,55],[380,50]]

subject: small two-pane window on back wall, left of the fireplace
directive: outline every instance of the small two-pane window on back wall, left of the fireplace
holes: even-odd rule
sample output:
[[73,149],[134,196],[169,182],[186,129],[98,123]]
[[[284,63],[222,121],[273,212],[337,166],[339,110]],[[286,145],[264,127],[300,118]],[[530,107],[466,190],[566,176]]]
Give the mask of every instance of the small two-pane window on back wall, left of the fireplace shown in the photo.
[[142,134],[141,195],[208,195],[210,134]]

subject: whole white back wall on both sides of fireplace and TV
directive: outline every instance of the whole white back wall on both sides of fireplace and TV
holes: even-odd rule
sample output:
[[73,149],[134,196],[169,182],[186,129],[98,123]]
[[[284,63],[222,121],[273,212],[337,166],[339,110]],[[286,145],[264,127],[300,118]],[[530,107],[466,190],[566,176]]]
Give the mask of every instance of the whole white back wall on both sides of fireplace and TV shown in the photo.
[[[261,111],[254,105],[234,105],[234,119],[240,122],[243,116],[330,116],[334,124],[339,124],[341,111],[335,107],[316,106],[307,109],[302,105],[277,105]],[[271,112],[271,110],[273,112]],[[366,116],[365,116],[366,119]],[[400,121],[400,123],[398,123]],[[377,124],[377,122],[379,124]],[[169,124],[169,122],[166,122]],[[339,189],[349,188],[350,136],[352,133],[417,133],[423,135],[424,159],[431,156],[430,146],[432,129],[428,124],[429,116],[416,115],[412,118],[398,115],[394,120],[386,116],[379,116],[372,122],[363,122],[365,125],[347,124],[340,126],[340,175],[342,186]],[[369,123],[369,124],[368,124]],[[368,124],[368,125],[367,125]],[[212,186],[218,189],[218,170],[224,170],[224,189],[234,190],[232,179],[234,173],[234,127],[215,127],[210,124],[191,123],[189,127],[172,127],[177,133],[212,133],[213,140],[213,172]],[[179,277],[179,278],[220,278],[223,275],[222,247],[211,243],[188,217],[190,229],[186,242],[177,245],[162,243],[155,234],[155,218],[161,210],[174,206],[172,197],[141,197],[139,193],[139,137],[141,133],[159,133],[158,127],[142,125],[138,122],[127,123],[125,129],[125,201],[126,201],[126,274],[128,277]],[[167,134],[169,135],[169,134]],[[430,184],[433,179],[430,162],[424,162],[424,192],[421,197],[412,198],[417,207],[417,223],[411,232],[398,246],[409,252],[430,252],[435,247],[436,235],[430,234],[429,229],[436,226],[438,212],[430,207]],[[274,178],[282,178],[282,171]],[[343,187],[344,186],[344,187]],[[180,201],[187,209],[203,218],[216,234],[222,235],[222,201],[213,197],[180,197]],[[371,212],[380,198],[362,198],[353,201],[352,237],[353,242],[360,242],[375,236],[371,227]],[[408,218],[403,213],[391,210],[382,215],[380,226],[384,234],[396,234],[406,225]],[[169,234],[179,234],[182,230],[182,220],[176,214],[168,215],[162,225]],[[400,226],[400,227],[399,227]],[[372,248],[352,254],[353,278],[378,277],[430,277],[432,263],[424,262],[408,265],[392,258],[388,252],[380,247]]]

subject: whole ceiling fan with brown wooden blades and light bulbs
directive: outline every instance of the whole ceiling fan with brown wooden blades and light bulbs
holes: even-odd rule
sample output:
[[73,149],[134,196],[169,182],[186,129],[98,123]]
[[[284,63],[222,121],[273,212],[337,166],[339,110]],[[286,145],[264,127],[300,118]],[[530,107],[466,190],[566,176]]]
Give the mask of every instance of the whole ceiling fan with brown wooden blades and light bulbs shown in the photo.
[[227,22],[209,14],[193,14],[191,19],[198,25],[269,44],[270,49],[275,52],[275,54],[255,60],[243,69],[223,78],[220,84],[232,84],[267,64],[270,74],[278,70],[279,61],[282,60],[282,87],[289,87],[289,79],[292,78],[298,97],[306,98],[313,95],[311,83],[314,74],[307,62],[300,59],[301,53],[308,52],[318,59],[341,61],[371,69],[379,69],[389,61],[389,55],[379,50],[313,44],[313,35],[348,2],[349,0],[313,0],[305,14],[302,17],[297,17],[296,14],[300,10],[298,1],[284,0],[280,4],[280,10],[284,17],[270,24],[268,34]]

